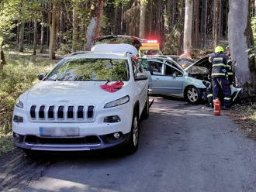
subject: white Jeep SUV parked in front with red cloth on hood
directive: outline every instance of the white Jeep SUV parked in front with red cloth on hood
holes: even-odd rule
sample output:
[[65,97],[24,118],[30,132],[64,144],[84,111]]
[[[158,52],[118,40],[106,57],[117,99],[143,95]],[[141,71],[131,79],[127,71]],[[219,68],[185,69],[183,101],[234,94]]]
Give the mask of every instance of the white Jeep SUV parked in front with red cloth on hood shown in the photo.
[[[12,118],[16,146],[78,151],[123,143],[130,153],[137,150],[138,121],[149,114],[147,74],[133,53],[95,52],[65,57],[19,96]],[[116,92],[101,87],[116,81],[123,82]]]

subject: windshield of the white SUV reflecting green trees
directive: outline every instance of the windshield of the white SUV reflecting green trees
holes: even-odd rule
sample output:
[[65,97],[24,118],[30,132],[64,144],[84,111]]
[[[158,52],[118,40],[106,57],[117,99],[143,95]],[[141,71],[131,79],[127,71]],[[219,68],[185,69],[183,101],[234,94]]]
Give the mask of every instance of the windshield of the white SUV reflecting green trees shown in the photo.
[[59,63],[44,81],[129,81],[128,61],[71,59]]

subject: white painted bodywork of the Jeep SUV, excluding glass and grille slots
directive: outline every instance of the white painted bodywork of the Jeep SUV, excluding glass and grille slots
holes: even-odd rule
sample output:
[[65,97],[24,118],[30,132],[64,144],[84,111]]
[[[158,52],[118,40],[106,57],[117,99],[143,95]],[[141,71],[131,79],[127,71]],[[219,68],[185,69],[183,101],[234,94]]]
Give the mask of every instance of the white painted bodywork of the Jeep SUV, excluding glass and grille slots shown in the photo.
[[[123,45],[121,46],[123,47]],[[116,47],[115,47],[116,49]],[[124,47],[123,47],[124,49]],[[95,49],[96,50],[96,49]],[[97,50],[99,52],[99,50]],[[41,129],[71,129],[78,130],[78,137],[85,137],[87,135],[95,135],[101,140],[95,145],[68,145],[68,144],[31,144],[22,141],[17,142],[16,146],[24,149],[36,150],[87,150],[87,149],[102,149],[114,146],[123,142],[120,140],[113,143],[105,143],[102,140],[102,135],[113,134],[121,132],[123,135],[129,134],[131,131],[133,110],[135,105],[140,103],[139,115],[141,115],[147,101],[148,82],[135,81],[133,75],[133,66],[131,58],[135,57],[133,54],[117,54],[117,53],[82,53],[72,55],[64,58],[64,60],[73,60],[78,58],[111,58],[111,59],[125,59],[128,60],[130,70],[130,80],[123,82],[123,87],[116,92],[110,93],[103,90],[100,85],[106,84],[106,81],[41,81],[35,86],[31,87],[29,91],[19,96],[19,101],[22,101],[23,108],[15,106],[13,111],[13,118],[15,115],[22,117],[23,122],[12,121],[12,130],[18,140],[26,135],[33,135],[36,138],[42,138]],[[64,62],[62,60],[61,62]],[[60,63],[61,63],[60,62]],[[56,66],[57,67],[57,66]],[[48,74],[49,75],[49,74]],[[109,82],[112,84],[114,82]],[[112,108],[104,108],[105,105],[111,101],[123,98],[129,95],[130,100],[123,104]],[[36,118],[31,118],[30,108],[36,105]],[[48,117],[48,109],[54,105],[54,118]],[[64,106],[64,118],[57,118],[57,106]],[[84,118],[78,118],[76,111],[78,106],[84,106]],[[39,106],[45,106],[44,118],[39,118]],[[74,117],[67,118],[68,106],[74,106]],[[86,112],[88,106],[93,106],[92,118],[87,118]],[[118,115],[120,122],[107,123],[104,118],[108,116]]]

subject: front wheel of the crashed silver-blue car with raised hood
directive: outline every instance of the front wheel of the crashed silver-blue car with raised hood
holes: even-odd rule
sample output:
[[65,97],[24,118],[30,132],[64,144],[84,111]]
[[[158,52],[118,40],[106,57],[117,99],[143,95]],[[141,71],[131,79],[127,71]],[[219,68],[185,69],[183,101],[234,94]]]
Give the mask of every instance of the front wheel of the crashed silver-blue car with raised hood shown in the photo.
[[202,92],[195,86],[189,86],[185,91],[186,100],[192,105],[198,105],[202,98]]

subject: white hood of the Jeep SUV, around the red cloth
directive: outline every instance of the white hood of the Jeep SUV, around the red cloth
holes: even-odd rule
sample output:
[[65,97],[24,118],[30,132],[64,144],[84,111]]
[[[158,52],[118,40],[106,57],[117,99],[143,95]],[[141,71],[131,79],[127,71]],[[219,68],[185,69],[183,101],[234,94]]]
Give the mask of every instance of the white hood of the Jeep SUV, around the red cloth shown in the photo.
[[26,93],[26,103],[27,105],[98,105],[126,95],[126,82],[114,93],[103,90],[100,87],[102,84],[106,84],[106,81],[41,81]]

